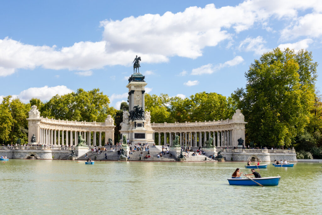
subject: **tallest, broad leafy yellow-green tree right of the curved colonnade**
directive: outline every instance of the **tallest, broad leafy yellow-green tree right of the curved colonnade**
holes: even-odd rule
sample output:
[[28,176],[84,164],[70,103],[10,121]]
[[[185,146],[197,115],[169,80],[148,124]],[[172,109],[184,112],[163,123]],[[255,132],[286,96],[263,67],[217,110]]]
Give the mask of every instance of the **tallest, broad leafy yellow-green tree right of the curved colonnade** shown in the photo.
[[304,133],[313,108],[316,67],[308,51],[279,48],[251,64],[246,89],[232,94],[248,122],[248,141],[289,146]]

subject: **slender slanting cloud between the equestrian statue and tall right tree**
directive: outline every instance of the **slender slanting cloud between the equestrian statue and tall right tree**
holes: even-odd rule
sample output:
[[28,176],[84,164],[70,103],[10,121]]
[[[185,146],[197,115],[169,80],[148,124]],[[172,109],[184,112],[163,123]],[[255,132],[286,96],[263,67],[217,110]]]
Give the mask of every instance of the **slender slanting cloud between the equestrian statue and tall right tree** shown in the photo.
[[226,61],[223,64],[217,64],[213,66],[213,64],[203,65],[199,68],[193,69],[191,74],[192,75],[203,75],[203,74],[212,74],[214,71],[222,69],[224,67],[231,67],[238,64],[241,64],[244,61],[242,56],[236,56],[232,60]]

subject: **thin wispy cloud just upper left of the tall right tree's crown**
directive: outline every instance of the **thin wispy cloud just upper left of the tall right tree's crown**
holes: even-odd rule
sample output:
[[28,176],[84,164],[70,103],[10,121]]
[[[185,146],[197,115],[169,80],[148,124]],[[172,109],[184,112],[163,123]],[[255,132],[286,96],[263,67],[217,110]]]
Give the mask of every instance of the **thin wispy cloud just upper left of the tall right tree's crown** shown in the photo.
[[258,36],[256,38],[247,37],[239,44],[239,50],[254,52],[255,54],[261,55],[264,52],[270,51],[269,48],[266,48],[264,46],[265,43],[266,41],[261,36]]

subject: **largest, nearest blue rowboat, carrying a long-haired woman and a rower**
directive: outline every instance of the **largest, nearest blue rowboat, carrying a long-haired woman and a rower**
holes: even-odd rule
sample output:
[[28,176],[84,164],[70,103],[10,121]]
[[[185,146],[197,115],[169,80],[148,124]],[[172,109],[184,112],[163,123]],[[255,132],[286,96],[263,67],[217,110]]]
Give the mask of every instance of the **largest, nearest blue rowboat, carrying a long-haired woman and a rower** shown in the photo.
[[[281,177],[266,177],[266,178],[252,178],[252,180],[256,181],[257,183],[260,183],[263,186],[277,186],[279,185],[279,179]],[[259,186],[254,181],[251,181],[248,178],[243,179],[227,179],[229,182],[229,185],[242,185],[242,186]]]

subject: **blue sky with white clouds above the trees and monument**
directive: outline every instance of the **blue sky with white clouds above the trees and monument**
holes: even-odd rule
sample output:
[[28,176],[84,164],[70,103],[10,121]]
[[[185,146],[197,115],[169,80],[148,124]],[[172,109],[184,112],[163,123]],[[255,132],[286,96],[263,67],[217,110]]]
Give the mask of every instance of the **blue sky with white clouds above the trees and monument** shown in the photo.
[[[133,60],[146,93],[230,96],[279,47],[322,56],[322,1],[1,1],[0,102],[99,88],[119,109]],[[319,75],[321,66],[317,67]],[[321,91],[322,79],[317,78]]]

